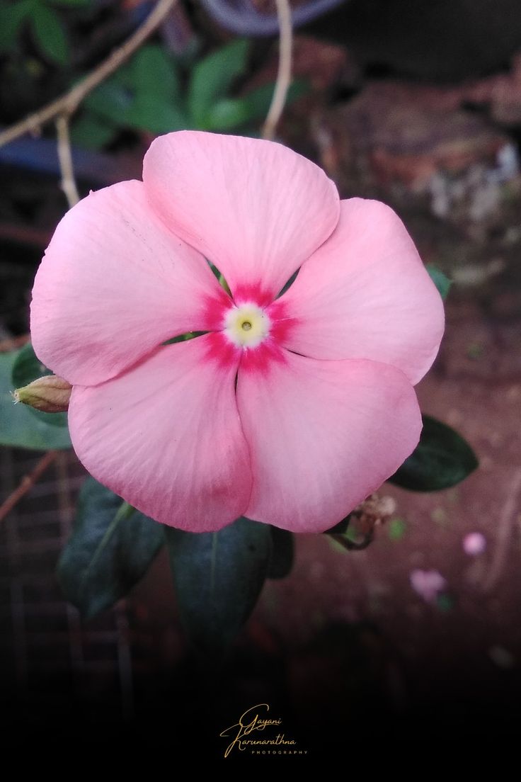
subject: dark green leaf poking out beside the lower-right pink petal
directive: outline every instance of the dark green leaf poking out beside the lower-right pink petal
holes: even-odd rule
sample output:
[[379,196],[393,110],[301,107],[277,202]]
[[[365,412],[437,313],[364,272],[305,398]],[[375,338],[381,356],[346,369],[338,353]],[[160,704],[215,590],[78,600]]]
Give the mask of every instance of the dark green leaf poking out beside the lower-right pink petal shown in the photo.
[[477,466],[476,455],[458,432],[424,415],[418,447],[389,481],[412,491],[437,491],[455,486]]

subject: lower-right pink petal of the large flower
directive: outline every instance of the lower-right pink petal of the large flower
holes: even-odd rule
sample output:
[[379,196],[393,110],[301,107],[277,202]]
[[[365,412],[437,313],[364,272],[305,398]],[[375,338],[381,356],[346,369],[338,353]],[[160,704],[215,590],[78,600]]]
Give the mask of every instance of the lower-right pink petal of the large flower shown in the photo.
[[416,394],[398,369],[373,361],[284,361],[239,369],[237,402],[252,458],[245,515],[322,532],[392,475],[416,447]]

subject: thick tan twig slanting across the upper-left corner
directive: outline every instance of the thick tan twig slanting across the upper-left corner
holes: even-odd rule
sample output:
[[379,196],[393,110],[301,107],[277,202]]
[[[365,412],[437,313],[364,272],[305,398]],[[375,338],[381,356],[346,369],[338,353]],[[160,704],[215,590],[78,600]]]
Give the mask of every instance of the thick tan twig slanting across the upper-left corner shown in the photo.
[[145,19],[145,22],[141,27],[138,27],[130,38],[128,38],[122,46],[116,48],[115,51],[112,52],[101,65],[93,70],[91,74],[88,74],[88,76],[79,81],[78,84],[70,91],[66,92],[65,95],[61,95],[61,97],[48,103],[47,106],[30,114],[25,120],[17,122],[15,125],[8,127],[7,130],[0,133],[0,146],[9,144],[9,142],[22,136],[24,133],[39,130],[42,125],[45,125],[50,120],[54,120],[55,117],[70,117],[89,92],[97,87],[98,84],[101,84],[101,82],[117,70],[120,65],[123,65],[148,36],[151,35],[154,30],[157,30],[176,2],[177,0],[159,0],[158,4],[155,5],[155,8]]

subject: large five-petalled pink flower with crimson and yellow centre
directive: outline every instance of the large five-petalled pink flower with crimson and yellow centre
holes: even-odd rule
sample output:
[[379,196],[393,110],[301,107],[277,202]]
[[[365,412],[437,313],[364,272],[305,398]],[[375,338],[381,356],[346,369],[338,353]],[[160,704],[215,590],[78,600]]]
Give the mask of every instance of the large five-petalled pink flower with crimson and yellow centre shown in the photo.
[[[73,384],[80,461],[194,532],[341,521],[416,447],[412,384],[443,322],[391,209],[340,201],[279,144],[191,131],[63,217],[31,306],[37,356]],[[191,331],[208,333],[163,344]]]

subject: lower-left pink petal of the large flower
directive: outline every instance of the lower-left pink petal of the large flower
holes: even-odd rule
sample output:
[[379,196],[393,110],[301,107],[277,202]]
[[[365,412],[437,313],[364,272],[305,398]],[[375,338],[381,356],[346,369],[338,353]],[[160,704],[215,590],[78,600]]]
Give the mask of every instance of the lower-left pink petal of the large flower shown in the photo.
[[236,361],[214,335],[159,348],[101,386],[74,386],[70,435],[87,470],[157,521],[220,529],[248,504],[252,473],[234,393]]

